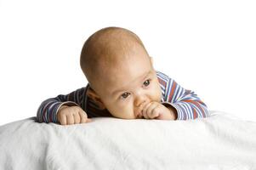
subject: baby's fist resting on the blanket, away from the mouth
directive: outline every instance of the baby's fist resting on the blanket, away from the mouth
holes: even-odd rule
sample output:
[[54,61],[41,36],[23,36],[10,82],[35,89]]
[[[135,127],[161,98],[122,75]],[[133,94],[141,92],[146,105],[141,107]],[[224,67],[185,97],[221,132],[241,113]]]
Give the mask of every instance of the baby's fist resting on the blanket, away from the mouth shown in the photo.
[[57,113],[57,119],[61,125],[72,125],[77,123],[91,122],[85,111],[78,106],[62,105]]

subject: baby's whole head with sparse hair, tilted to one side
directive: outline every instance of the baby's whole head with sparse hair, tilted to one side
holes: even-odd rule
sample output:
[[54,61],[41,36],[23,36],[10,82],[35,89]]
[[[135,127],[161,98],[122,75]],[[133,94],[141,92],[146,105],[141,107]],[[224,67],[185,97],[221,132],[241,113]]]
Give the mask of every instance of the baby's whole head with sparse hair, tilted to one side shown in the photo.
[[82,47],[80,65],[93,89],[90,97],[112,116],[139,118],[141,104],[161,101],[152,59],[132,31],[119,27],[96,31]]

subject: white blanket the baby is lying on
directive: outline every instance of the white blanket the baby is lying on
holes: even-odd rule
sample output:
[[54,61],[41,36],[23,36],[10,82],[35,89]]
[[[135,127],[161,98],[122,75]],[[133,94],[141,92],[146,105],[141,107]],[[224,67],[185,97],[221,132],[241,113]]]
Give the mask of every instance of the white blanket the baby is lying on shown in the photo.
[[211,111],[191,121],[35,117],[0,127],[0,169],[256,169],[256,122]]

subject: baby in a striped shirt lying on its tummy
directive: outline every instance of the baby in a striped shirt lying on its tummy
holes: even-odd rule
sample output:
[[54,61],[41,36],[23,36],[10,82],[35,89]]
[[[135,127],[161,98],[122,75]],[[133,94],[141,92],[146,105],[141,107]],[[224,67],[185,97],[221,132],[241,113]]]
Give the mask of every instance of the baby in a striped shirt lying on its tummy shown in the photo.
[[88,85],[46,99],[38,122],[61,125],[91,122],[91,117],[188,120],[208,116],[191,90],[155,71],[139,37],[120,27],[96,31],[82,47],[80,65]]

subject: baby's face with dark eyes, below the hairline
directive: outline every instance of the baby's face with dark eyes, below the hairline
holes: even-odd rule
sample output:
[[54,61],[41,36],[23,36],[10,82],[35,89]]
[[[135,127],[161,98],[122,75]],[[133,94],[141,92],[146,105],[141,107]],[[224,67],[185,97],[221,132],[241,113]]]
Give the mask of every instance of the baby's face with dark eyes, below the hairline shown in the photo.
[[102,90],[99,94],[112,116],[141,118],[141,104],[161,101],[162,92],[156,71],[151,65],[151,58],[143,51],[118,62],[105,75],[103,82],[100,81]]

